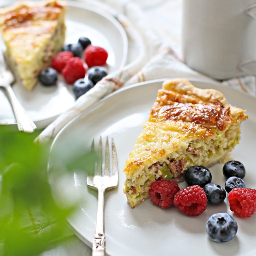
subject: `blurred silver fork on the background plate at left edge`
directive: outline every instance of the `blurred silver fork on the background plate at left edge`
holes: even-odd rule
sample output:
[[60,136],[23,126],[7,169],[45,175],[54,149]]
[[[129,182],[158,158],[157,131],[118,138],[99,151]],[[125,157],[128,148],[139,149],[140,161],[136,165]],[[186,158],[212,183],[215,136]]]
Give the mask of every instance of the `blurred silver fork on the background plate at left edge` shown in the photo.
[[33,132],[37,126],[34,124],[32,119],[26,114],[23,106],[19,103],[16,98],[11,84],[14,82],[14,76],[10,70],[6,67],[3,52],[0,50],[0,87],[6,90],[9,97],[12,109],[17,121],[19,131]]

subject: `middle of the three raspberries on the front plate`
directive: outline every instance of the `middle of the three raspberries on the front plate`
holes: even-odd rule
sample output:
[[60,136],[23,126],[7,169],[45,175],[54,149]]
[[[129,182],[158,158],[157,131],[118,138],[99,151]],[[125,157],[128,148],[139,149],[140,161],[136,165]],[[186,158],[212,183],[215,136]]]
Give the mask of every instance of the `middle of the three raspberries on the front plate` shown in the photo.
[[198,216],[206,210],[207,196],[202,187],[193,185],[177,192],[173,203],[182,213]]

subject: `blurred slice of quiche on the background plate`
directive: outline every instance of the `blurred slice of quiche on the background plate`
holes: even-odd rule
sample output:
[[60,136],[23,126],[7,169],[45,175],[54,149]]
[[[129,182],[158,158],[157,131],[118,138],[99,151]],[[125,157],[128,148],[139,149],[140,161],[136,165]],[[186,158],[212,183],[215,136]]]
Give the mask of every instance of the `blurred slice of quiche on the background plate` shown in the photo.
[[56,0],[22,1],[0,8],[6,61],[29,91],[64,44],[65,13],[65,3]]

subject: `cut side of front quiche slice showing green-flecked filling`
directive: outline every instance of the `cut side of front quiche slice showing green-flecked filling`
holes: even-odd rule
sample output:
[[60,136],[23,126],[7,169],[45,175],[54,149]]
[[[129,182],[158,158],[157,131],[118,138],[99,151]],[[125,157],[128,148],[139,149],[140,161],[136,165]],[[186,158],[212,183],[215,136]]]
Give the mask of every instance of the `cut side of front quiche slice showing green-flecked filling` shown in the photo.
[[[231,125],[228,130],[235,131],[236,129],[239,129],[239,124]],[[182,182],[186,170],[191,166],[211,167],[215,162],[228,161],[229,153],[239,143],[239,133],[231,132],[231,138],[226,138],[219,130],[217,133],[216,136],[204,142],[191,141],[187,148],[184,147],[176,152],[179,155],[176,158],[170,155],[161,162],[153,163],[147,170],[143,169],[131,180],[126,180],[124,191],[131,206],[136,206],[148,197],[148,190],[153,181],[165,179]],[[215,162],[212,162],[212,157],[216,159]]]

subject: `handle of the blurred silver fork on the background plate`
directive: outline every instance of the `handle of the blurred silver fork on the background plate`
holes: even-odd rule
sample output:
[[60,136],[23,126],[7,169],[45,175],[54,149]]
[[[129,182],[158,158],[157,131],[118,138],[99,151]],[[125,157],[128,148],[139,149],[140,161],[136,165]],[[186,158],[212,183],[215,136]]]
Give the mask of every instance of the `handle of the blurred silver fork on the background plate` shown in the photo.
[[33,132],[37,128],[37,126],[33,123],[32,119],[26,114],[24,108],[16,98],[11,86],[8,84],[4,88],[6,89],[6,92],[9,96],[19,131]]

